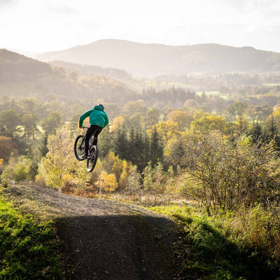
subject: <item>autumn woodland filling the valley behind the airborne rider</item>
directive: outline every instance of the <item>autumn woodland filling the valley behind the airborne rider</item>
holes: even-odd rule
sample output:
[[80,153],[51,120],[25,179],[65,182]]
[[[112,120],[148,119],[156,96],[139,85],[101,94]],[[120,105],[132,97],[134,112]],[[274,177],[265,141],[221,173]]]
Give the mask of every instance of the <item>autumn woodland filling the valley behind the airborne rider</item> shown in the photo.
[[[260,264],[258,272],[254,265],[239,271],[215,255],[217,279],[225,274],[226,279],[256,279],[256,273],[276,279],[280,76],[228,73],[146,80],[112,70],[117,79],[98,67],[90,72],[87,67],[82,72],[42,67],[43,73],[31,73],[29,81],[10,77],[8,90],[1,84],[3,187],[35,184],[172,213],[190,234],[192,227],[202,227],[207,250],[216,244],[209,230],[214,228],[248,263]],[[109,125],[99,135],[97,166],[88,173],[85,162],[76,160],[73,143],[83,133],[80,115],[99,103]],[[203,221],[197,222],[197,211]],[[198,234],[195,238],[197,248],[206,242]],[[209,265],[204,260],[202,274]]]

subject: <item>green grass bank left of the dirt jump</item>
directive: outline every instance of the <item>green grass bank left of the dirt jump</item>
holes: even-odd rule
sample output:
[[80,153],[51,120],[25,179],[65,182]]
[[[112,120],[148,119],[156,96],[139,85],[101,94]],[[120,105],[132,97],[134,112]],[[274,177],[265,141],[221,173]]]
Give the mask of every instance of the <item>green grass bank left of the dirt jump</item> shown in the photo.
[[39,224],[0,196],[0,279],[62,279],[52,222]]

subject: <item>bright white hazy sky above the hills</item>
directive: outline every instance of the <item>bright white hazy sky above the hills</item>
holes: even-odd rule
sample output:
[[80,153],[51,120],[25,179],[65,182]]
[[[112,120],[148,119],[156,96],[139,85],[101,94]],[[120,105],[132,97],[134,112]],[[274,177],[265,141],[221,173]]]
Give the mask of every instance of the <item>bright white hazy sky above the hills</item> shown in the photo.
[[280,52],[280,1],[0,0],[0,48],[46,52],[104,38]]

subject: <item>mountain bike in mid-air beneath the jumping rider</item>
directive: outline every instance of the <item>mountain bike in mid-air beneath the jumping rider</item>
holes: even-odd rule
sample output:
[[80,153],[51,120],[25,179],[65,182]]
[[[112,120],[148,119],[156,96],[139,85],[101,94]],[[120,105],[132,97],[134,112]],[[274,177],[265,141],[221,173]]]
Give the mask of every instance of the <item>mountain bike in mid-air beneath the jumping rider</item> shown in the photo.
[[[83,127],[83,129],[86,128],[88,130],[89,127]],[[74,153],[76,155],[77,160],[84,160],[81,158],[81,156],[85,153],[85,134],[80,134],[76,138],[75,144],[74,144]],[[94,145],[94,137],[90,137],[90,145],[88,149],[88,155],[87,155],[87,171],[92,172],[94,169],[98,158],[98,149],[97,146]]]

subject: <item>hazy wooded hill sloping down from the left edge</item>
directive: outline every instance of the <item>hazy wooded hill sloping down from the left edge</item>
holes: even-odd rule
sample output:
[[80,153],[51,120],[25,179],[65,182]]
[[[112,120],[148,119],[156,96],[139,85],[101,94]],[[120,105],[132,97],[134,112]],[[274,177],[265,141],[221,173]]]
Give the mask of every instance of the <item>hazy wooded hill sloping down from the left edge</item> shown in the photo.
[[[127,75],[125,71],[117,72]],[[92,99],[100,99],[120,106],[133,99],[135,94],[125,83],[109,76],[92,73],[83,78],[73,77],[62,66],[52,69],[48,63],[0,49],[0,97],[36,96],[45,100],[50,93],[61,101],[83,99],[92,102]]]

